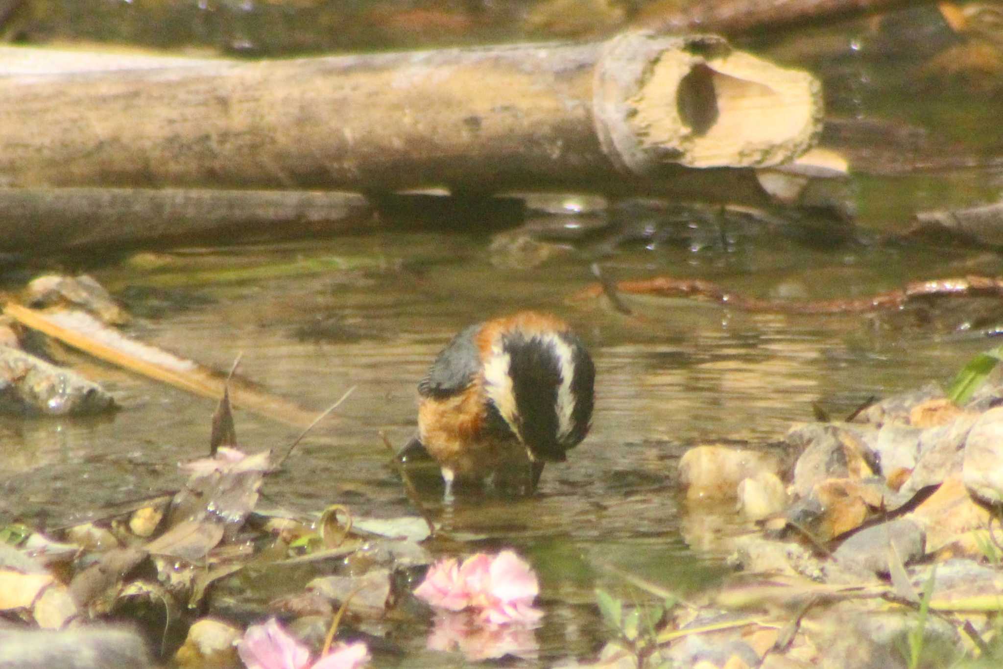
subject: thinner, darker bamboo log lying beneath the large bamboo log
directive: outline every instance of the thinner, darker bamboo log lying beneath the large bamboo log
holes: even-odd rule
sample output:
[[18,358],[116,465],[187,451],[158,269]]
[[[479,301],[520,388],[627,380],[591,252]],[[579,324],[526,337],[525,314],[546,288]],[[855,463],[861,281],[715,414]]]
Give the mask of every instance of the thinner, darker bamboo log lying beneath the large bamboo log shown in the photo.
[[0,188],[0,251],[286,239],[354,230],[371,214],[354,193]]

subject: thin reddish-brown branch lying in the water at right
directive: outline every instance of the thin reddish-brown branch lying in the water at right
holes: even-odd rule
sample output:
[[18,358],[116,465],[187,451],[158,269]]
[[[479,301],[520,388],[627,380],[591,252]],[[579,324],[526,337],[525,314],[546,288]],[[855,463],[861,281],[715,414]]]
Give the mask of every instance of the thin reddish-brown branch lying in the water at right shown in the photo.
[[[742,311],[777,312],[784,314],[858,314],[898,309],[920,298],[1003,297],[1003,277],[956,277],[914,281],[904,288],[877,293],[865,298],[840,300],[763,300],[731,293],[717,284],[702,279],[654,277],[619,281],[616,290],[628,295],[686,297],[703,302],[717,302]],[[595,299],[608,294],[601,283],[592,284],[572,297],[572,300]]]

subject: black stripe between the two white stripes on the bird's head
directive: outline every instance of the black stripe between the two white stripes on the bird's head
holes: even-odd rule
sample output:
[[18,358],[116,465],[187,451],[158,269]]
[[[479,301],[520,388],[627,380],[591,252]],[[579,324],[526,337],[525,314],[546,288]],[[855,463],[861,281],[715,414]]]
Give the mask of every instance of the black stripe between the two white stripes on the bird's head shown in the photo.
[[536,459],[564,461],[565,448],[557,440],[561,362],[554,347],[521,333],[506,335],[503,346],[510,358],[509,375],[524,443]]

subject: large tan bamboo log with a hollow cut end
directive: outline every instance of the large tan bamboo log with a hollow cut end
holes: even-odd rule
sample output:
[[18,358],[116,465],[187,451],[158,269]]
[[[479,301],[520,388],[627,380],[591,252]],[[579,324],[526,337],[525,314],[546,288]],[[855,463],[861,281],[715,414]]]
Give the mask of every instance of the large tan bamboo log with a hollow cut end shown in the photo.
[[821,117],[810,75],[706,36],[261,62],[130,57],[107,70],[90,57],[68,66],[77,72],[15,52],[0,49],[0,184],[12,187],[759,200],[745,168],[795,157]]

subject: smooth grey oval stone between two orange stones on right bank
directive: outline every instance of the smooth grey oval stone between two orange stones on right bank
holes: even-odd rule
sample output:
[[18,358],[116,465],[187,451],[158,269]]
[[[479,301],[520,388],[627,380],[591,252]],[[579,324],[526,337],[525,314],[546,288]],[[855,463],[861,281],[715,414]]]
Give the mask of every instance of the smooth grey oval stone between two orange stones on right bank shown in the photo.
[[899,519],[867,528],[840,545],[832,558],[847,570],[888,574],[889,545],[904,565],[924,555],[925,536],[915,521]]

